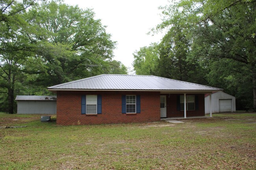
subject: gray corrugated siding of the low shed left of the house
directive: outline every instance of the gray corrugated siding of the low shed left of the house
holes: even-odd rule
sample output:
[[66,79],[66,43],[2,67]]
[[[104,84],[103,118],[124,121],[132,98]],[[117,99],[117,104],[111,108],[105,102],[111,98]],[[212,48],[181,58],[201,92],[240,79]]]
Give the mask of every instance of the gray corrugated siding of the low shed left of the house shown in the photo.
[[57,101],[18,101],[18,114],[56,114]]

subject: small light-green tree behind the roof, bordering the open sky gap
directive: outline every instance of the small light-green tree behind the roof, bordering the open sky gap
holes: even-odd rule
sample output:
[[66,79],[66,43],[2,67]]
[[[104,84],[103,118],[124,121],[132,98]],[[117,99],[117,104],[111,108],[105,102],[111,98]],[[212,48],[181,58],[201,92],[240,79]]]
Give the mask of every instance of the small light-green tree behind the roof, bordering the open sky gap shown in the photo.
[[159,60],[158,44],[152,43],[148,47],[140,48],[133,55],[133,66],[137,75],[156,75]]

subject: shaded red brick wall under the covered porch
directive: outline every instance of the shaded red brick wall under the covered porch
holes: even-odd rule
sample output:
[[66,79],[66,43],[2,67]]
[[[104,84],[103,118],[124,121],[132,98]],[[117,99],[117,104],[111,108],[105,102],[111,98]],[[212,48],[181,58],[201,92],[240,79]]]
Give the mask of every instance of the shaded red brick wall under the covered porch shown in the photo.
[[[181,95],[181,94],[166,95],[167,117],[183,117],[184,116],[184,111],[177,110],[177,95]],[[191,94],[191,95],[198,95],[198,110],[187,110],[187,116],[204,116],[204,94]]]

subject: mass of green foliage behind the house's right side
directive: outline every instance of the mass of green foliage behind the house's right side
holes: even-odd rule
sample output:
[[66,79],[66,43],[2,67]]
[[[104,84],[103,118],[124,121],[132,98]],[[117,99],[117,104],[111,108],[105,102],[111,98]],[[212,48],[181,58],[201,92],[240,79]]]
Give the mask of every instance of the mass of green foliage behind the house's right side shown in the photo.
[[[256,1],[179,0],[161,9],[163,22],[156,31],[169,30],[161,42],[162,75],[187,75],[185,80],[225,88],[243,101],[240,105],[256,106]],[[173,60],[180,56],[182,60]]]

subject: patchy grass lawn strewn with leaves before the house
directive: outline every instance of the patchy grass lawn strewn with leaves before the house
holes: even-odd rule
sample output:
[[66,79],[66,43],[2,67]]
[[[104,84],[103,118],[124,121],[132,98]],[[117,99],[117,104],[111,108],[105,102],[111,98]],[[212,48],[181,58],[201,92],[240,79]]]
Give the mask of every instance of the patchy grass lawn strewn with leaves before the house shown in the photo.
[[0,126],[28,126],[0,128],[0,169],[256,169],[256,113],[182,121],[58,126],[0,113]]

